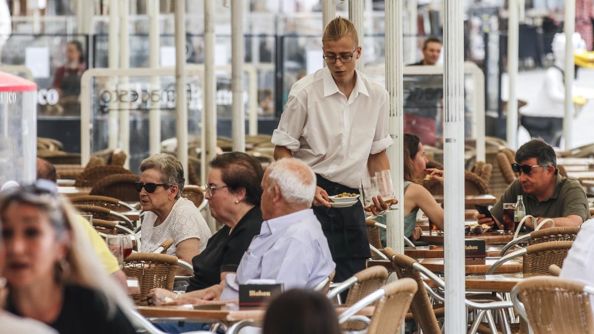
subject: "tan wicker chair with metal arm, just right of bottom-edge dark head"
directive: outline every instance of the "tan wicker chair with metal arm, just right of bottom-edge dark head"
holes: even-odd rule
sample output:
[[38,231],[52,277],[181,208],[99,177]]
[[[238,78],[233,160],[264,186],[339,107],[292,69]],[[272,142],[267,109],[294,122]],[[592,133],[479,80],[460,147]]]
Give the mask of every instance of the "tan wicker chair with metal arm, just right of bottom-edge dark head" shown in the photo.
[[406,311],[410,307],[410,301],[417,289],[416,282],[410,278],[388,283],[340,314],[339,323],[343,324],[353,320],[352,317],[362,308],[375,304],[366,333],[400,333],[400,326],[402,326]]

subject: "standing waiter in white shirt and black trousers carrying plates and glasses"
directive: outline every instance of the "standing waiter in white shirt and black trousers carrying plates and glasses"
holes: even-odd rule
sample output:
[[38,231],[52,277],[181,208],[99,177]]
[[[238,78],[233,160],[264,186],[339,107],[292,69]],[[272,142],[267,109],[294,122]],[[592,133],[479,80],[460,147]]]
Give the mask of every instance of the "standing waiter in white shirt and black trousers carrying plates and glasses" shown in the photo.
[[[293,84],[272,143],[275,159],[296,157],[316,173],[313,209],[336,263],[334,282],[342,282],[371,256],[365,216],[359,201],[334,208],[328,195],[359,193],[361,178],[390,169],[386,149],[393,141],[388,92],[355,70],[362,48],[353,23],[330,21],[322,50],[327,67]],[[381,198],[374,203],[373,212],[386,208]]]

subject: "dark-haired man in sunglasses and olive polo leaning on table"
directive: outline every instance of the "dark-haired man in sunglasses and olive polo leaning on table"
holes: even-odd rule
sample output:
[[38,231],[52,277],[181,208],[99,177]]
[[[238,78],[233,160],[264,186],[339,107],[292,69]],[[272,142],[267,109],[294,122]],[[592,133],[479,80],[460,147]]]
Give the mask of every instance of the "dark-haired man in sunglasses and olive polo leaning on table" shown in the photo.
[[[555,226],[579,226],[590,218],[582,185],[559,174],[555,151],[544,140],[537,138],[523,144],[516,152],[516,161],[511,165],[516,181],[491,209],[497,225],[503,222],[503,203],[516,203],[518,195],[523,196],[526,215],[538,218],[537,223],[551,218]],[[494,222],[479,215],[479,223],[492,225]],[[534,228],[529,220],[525,223]]]

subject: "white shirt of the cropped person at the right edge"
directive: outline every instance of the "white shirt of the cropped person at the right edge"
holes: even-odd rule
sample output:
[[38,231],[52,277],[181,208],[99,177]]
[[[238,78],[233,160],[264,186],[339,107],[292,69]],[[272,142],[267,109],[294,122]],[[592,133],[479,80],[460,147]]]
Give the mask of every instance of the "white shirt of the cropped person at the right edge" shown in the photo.
[[[586,220],[563,261],[560,277],[594,286],[594,218]],[[594,297],[590,295],[594,312]]]

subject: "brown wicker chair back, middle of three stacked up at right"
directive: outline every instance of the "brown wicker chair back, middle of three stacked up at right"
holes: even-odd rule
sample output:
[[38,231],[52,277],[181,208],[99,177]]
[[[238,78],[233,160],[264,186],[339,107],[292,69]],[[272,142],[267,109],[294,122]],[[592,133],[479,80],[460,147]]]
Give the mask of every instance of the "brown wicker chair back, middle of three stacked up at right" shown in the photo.
[[550,241],[526,247],[522,271],[548,275],[551,264],[563,266],[572,243],[573,241]]

